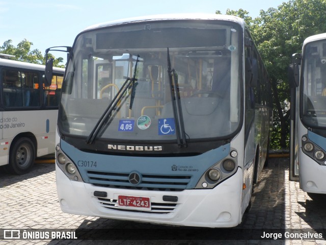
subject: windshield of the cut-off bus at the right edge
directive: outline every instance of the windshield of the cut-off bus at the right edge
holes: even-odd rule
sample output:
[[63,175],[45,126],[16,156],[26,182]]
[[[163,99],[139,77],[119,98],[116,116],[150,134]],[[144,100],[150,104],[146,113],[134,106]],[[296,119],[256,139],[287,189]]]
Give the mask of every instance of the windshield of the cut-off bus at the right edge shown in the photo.
[[302,66],[302,120],[311,128],[326,128],[326,41],[310,42]]

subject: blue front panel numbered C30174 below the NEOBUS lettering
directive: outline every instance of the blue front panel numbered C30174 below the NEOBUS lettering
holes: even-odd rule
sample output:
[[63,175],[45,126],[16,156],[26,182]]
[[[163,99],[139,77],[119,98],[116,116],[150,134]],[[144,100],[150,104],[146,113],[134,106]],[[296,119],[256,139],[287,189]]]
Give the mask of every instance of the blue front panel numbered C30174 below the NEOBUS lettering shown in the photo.
[[114,182],[111,183],[114,179],[119,180],[120,185],[130,185],[128,176],[137,170],[143,176],[143,181],[153,182],[148,187],[192,189],[209,167],[228,156],[230,143],[190,157],[130,157],[89,153],[79,151],[63,140],[61,149],[75,163],[86,183],[106,182],[114,185]]

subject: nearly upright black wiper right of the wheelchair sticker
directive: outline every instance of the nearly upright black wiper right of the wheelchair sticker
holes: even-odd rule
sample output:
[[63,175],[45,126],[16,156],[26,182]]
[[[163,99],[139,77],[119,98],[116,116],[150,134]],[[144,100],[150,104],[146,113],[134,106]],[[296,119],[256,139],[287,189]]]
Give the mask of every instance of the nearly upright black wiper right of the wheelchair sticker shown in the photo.
[[178,78],[175,69],[171,68],[169,48],[168,48],[168,74],[170,79],[170,91],[171,91],[173,116],[175,118],[177,143],[180,148],[182,146],[187,147],[187,142],[186,142],[185,132],[184,132],[184,121],[183,121],[181,102],[180,102]]

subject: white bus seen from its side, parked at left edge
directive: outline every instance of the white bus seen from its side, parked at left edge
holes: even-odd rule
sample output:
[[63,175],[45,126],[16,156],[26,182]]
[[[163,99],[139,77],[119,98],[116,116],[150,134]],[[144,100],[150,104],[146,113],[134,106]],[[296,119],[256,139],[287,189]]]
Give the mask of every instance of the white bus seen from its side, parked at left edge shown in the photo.
[[49,84],[44,65],[9,60],[0,54],[0,166],[27,173],[36,157],[55,153],[63,68],[53,68]]

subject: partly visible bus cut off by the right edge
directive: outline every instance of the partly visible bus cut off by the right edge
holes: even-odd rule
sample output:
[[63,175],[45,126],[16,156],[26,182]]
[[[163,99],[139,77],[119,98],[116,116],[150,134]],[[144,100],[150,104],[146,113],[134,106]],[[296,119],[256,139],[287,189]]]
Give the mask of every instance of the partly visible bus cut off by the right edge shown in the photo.
[[290,180],[326,193],[326,33],[305,39],[290,65]]

